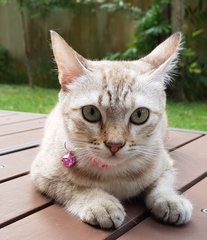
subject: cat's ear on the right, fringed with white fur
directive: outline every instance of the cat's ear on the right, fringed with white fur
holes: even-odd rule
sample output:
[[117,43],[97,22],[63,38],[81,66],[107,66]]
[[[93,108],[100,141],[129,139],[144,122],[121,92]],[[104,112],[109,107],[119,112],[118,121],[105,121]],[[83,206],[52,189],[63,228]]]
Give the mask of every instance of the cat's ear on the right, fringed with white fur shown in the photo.
[[182,33],[176,32],[140,60],[152,66],[154,70],[151,77],[153,79],[162,79],[164,84],[166,84],[171,79],[170,74],[176,67],[181,49]]

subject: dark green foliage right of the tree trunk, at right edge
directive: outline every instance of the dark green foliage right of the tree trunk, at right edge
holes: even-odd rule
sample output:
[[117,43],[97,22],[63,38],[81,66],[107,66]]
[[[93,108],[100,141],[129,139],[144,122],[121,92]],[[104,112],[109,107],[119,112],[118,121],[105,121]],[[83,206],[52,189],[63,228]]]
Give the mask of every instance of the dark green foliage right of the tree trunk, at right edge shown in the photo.
[[[199,43],[206,42],[207,3],[197,0],[185,8],[185,49],[182,52],[181,77],[189,100],[207,98],[207,57],[200,57]],[[203,46],[205,47],[205,45]]]

